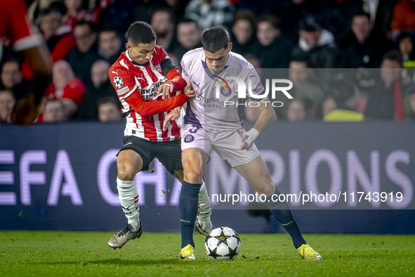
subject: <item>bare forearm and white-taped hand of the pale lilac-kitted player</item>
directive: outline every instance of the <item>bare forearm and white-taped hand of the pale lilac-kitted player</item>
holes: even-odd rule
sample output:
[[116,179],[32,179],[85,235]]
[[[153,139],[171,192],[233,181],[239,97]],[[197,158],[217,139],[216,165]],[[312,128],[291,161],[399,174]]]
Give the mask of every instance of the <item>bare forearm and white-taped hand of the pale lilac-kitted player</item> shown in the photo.
[[238,134],[242,137],[242,150],[250,149],[253,146],[253,141],[259,134],[265,131],[265,129],[277,119],[277,115],[275,115],[275,110],[272,108],[272,105],[266,105],[267,101],[270,103],[268,97],[258,105],[261,115],[259,115],[258,120],[256,120],[255,125],[251,130],[242,132],[237,128]]

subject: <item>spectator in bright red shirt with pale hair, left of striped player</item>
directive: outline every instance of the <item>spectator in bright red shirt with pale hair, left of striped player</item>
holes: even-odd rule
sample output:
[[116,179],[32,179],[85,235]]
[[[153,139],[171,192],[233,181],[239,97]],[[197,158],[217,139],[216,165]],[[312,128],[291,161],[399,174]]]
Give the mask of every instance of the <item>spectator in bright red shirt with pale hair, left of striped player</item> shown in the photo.
[[60,100],[65,110],[65,117],[70,118],[78,110],[86,91],[85,84],[75,77],[66,60],[53,64],[53,84],[46,89],[49,100]]

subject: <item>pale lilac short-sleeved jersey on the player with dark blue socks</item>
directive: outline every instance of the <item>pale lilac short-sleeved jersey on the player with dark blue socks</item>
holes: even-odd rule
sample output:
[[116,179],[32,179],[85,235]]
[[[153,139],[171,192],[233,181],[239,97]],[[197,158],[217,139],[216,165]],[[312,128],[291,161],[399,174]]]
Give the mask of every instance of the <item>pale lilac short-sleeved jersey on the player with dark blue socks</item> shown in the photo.
[[[244,105],[238,103],[238,85],[235,80],[226,77],[238,77],[253,94],[262,94],[264,91],[261,79],[251,63],[237,53],[229,53],[228,63],[218,75],[213,75],[205,63],[205,54],[202,48],[185,53],[181,60],[182,77],[186,82],[192,80],[193,90],[197,92],[195,98],[187,102],[185,124],[204,129],[232,129],[244,126]],[[220,88],[219,97],[216,96],[216,86]],[[248,96],[247,92],[244,94]],[[266,97],[265,97],[266,98]],[[264,99],[253,99],[263,101]],[[239,99],[242,101],[242,99]],[[225,107],[225,103],[226,107]],[[230,103],[234,103],[230,105]]]

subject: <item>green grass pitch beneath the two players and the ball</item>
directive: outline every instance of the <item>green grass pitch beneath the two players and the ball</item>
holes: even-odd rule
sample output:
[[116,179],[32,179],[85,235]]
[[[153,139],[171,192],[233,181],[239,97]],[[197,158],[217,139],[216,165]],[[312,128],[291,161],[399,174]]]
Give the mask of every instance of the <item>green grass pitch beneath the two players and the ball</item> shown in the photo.
[[196,262],[176,257],[179,233],[143,233],[119,250],[112,233],[0,232],[0,276],[415,276],[415,236],[306,235],[321,261],[284,234],[241,234],[233,261],[213,261],[195,234]]

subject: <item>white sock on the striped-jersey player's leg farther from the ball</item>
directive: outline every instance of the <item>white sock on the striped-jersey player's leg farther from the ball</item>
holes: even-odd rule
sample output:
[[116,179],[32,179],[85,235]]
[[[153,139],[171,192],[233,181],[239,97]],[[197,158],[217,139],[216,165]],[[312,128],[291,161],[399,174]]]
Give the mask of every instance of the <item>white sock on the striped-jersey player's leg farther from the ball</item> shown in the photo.
[[138,191],[135,181],[121,181],[117,177],[117,189],[119,203],[131,224],[132,231],[136,232],[140,228],[140,209],[138,208]]

